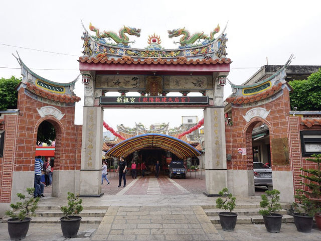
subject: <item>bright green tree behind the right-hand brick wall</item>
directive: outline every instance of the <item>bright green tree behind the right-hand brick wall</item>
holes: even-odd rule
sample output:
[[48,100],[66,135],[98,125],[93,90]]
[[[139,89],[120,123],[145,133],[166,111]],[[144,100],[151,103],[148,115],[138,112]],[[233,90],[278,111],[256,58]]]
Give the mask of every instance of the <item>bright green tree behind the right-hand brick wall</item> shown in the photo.
[[307,79],[292,80],[289,82],[293,91],[290,92],[291,109],[298,110],[321,109],[321,69],[312,73]]

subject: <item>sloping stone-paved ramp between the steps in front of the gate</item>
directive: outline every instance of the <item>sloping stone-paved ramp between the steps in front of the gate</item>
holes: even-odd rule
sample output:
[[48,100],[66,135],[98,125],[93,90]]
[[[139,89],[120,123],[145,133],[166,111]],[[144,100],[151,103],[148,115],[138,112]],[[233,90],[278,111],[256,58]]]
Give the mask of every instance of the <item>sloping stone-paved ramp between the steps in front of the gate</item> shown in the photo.
[[[211,240],[207,234],[217,234],[214,225],[200,206],[114,208],[117,212],[107,211],[103,218],[113,220],[111,226],[102,222],[93,234],[92,240],[99,240],[101,233],[106,234],[107,240]],[[123,215],[124,211],[126,215]]]

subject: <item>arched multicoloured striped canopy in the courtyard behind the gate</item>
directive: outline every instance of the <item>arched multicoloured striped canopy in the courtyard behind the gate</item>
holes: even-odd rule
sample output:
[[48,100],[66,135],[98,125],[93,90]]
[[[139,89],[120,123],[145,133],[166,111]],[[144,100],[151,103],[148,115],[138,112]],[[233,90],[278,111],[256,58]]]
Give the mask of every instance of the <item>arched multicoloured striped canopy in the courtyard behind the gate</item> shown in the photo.
[[200,152],[190,144],[163,134],[144,134],[129,138],[108,150],[106,155],[118,158],[120,156],[126,157],[132,152],[145,147],[163,148],[180,159],[200,155]]

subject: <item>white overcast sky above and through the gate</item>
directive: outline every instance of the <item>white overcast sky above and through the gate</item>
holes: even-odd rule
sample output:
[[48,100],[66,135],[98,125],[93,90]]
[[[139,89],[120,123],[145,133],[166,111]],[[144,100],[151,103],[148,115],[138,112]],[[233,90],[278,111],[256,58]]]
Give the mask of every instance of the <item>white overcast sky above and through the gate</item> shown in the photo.
[[[217,24],[226,29],[227,53],[231,58],[228,78],[245,82],[262,65],[283,65],[294,54],[293,65],[321,65],[321,1],[1,1],[0,77],[20,77],[19,52],[24,63],[40,76],[70,82],[79,74],[82,55],[80,20],[103,30],[118,32],[123,26],[140,28],[140,38],[131,36],[134,48],[144,48],[148,35],[160,35],[162,46],[177,48],[168,30],[185,27],[209,34]],[[93,33],[93,32],[92,32]],[[94,34],[94,33],[93,33]],[[176,38],[175,41],[179,39]],[[63,53],[53,54],[24,48]],[[47,69],[47,70],[42,70]],[[76,83],[76,124],[82,124],[84,86]],[[225,98],[231,86],[225,86]],[[1,101],[1,100],[0,100]],[[149,126],[168,123],[179,126],[182,115],[203,117],[202,109],[105,109],[104,120],[114,129],[134,123]]]

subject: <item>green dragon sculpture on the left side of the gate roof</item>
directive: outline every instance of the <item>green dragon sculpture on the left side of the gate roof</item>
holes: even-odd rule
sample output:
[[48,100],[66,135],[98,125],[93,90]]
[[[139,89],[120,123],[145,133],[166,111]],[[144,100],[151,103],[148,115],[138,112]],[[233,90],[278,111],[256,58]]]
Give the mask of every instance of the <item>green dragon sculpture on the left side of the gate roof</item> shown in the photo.
[[91,25],[91,23],[89,24],[89,29],[96,33],[95,36],[91,37],[98,40],[102,44],[107,44],[105,38],[108,38],[114,40],[117,43],[116,45],[118,46],[128,46],[129,43],[135,43],[135,41],[130,42],[128,36],[126,36],[125,33],[129,35],[135,35],[137,37],[140,36],[140,29],[130,28],[126,26],[119,30],[119,36],[116,33],[110,31],[104,31],[103,33],[100,33],[99,29]]

